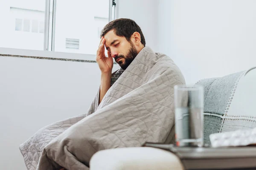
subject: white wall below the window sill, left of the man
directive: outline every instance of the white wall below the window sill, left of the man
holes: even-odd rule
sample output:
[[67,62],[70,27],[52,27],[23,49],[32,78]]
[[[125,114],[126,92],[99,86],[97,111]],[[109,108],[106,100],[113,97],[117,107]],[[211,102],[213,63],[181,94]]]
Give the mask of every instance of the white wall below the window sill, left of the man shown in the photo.
[[19,144],[45,125],[86,113],[99,83],[97,63],[0,57],[0,169],[26,170]]

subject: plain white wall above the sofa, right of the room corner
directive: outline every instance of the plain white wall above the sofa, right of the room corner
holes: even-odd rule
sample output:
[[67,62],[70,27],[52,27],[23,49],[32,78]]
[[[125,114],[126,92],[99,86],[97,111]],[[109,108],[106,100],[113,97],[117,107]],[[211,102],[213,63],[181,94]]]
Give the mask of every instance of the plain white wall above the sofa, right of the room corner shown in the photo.
[[255,0],[159,0],[159,51],[187,83],[256,66],[255,7]]

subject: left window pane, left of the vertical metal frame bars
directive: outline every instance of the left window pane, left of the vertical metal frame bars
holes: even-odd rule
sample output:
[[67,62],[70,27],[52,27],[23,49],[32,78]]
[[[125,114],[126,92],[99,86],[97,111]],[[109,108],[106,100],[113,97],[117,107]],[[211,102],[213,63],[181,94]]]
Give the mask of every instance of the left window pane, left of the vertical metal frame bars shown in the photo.
[[45,0],[0,1],[0,47],[44,50],[44,34],[36,21],[44,23]]

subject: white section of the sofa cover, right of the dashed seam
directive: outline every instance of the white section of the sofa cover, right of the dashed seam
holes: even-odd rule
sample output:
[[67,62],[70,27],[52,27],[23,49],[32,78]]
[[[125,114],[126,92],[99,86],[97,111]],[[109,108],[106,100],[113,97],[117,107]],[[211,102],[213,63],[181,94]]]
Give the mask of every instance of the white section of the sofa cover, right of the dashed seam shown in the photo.
[[256,68],[244,74],[230,96],[230,105],[223,116],[221,132],[256,127]]

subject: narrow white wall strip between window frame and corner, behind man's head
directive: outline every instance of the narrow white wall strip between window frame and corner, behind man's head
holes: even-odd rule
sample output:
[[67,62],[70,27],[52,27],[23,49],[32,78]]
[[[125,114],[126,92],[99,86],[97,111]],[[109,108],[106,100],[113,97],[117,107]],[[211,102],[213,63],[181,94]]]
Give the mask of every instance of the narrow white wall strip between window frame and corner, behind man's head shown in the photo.
[[141,28],[146,45],[158,51],[157,45],[158,0],[116,0],[116,18],[134,20]]

